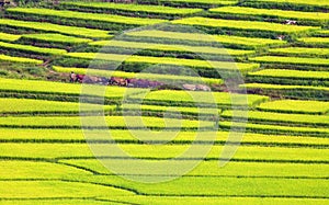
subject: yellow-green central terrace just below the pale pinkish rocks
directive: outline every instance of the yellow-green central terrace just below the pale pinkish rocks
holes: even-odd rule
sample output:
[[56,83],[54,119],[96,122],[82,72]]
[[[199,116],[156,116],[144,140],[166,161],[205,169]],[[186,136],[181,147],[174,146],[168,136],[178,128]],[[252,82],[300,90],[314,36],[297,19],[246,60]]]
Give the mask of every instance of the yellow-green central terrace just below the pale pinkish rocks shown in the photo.
[[[140,99],[140,95],[134,95],[132,99]],[[230,106],[234,105],[249,105],[253,106],[261,102],[268,101],[268,96],[262,95],[243,95],[243,94],[230,94],[226,92],[188,92],[188,91],[171,91],[171,90],[160,90],[148,93],[144,98],[144,103],[149,104],[152,102],[157,103],[167,103],[168,106],[174,106],[175,103],[181,103],[184,106],[188,106],[189,103],[217,103],[218,105]],[[195,106],[195,105],[194,105]]]

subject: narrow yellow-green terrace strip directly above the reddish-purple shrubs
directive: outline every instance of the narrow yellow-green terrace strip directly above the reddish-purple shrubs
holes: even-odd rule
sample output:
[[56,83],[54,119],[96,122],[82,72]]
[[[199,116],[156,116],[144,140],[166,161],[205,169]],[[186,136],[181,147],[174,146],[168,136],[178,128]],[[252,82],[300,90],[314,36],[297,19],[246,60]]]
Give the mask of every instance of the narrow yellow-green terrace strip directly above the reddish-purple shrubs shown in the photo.
[[125,71],[106,71],[98,69],[86,69],[86,68],[68,68],[54,66],[53,69],[57,72],[70,73],[71,71],[80,75],[91,75],[100,77],[120,77],[120,78],[136,78],[136,79],[147,79],[147,80],[158,80],[163,82],[190,82],[190,83],[207,83],[207,84],[222,84],[223,80],[214,78],[202,78],[202,77],[190,77],[190,76],[173,76],[173,75],[156,75],[156,73],[145,73],[145,72],[125,72]]

